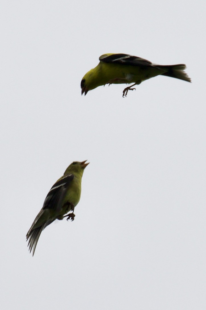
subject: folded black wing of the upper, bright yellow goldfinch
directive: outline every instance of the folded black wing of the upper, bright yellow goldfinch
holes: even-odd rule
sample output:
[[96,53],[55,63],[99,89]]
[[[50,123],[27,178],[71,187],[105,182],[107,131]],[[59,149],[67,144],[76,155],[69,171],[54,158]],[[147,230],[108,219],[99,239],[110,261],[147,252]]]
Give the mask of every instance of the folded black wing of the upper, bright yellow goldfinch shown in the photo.
[[128,54],[111,54],[111,55],[104,54],[99,57],[99,60],[111,64],[113,63],[113,64],[125,64],[139,67],[141,66],[153,67],[151,61]]

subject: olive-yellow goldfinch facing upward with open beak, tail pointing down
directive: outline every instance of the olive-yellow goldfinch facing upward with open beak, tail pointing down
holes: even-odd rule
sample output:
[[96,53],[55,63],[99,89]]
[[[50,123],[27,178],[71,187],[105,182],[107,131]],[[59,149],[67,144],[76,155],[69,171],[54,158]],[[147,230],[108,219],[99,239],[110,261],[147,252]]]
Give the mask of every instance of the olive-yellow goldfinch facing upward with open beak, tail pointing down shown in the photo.
[[[29,250],[31,253],[33,248],[33,255],[40,234],[46,226],[55,219],[63,219],[64,217],[67,217],[67,220],[74,220],[74,207],[80,200],[82,175],[88,164],[89,162],[86,163],[86,160],[71,163],[64,175],[57,180],[48,192],[42,209],[27,232]],[[65,215],[69,211],[72,213]]]

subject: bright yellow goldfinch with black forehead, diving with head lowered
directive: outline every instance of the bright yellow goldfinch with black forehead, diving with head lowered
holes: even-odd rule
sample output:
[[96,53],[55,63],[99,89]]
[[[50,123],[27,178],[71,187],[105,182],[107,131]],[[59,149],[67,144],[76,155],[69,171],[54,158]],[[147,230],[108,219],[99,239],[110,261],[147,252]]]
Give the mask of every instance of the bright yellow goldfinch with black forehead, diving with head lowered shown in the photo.
[[166,75],[191,82],[191,79],[183,71],[186,69],[185,64],[162,66],[127,54],[104,54],[99,57],[99,60],[99,64],[82,78],[81,88],[84,95],[88,91],[105,84],[134,83],[124,89],[124,97],[127,96],[129,90],[135,89],[132,86],[139,85],[142,81],[157,75]]

